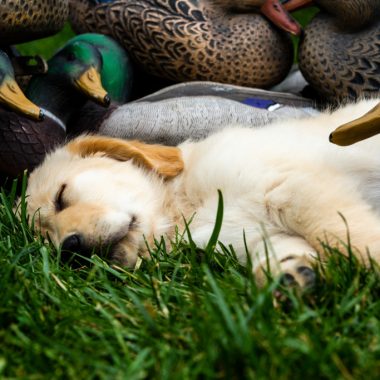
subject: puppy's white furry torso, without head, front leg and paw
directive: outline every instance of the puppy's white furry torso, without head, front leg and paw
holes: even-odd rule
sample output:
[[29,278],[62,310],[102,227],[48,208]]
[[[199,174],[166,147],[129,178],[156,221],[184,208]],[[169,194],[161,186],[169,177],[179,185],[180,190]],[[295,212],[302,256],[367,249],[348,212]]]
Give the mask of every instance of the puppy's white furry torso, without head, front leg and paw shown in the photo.
[[[232,244],[242,260],[247,242],[252,252],[260,251],[265,237],[302,236],[299,226],[324,219],[319,216],[324,211],[344,215],[340,204],[345,194],[378,209],[380,139],[345,148],[328,142],[333,129],[374,104],[254,130],[233,127],[202,142],[182,144],[185,170],[169,186],[178,194],[178,209],[192,217],[194,241],[205,245],[211,235],[218,189],[224,198],[220,240]],[[332,203],[321,209],[324,198]]]

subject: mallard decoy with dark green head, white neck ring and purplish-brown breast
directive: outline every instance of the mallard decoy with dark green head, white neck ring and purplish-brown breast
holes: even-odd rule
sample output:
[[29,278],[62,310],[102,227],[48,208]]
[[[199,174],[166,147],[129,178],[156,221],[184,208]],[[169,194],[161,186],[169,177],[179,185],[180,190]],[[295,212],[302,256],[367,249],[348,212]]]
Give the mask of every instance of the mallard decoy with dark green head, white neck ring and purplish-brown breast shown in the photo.
[[0,172],[8,176],[33,169],[62,142],[70,115],[87,99],[105,106],[110,102],[100,80],[101,55],[87,42],[64,47],[48,63],[48,72],[33,77],[27,89],[29,99],[43,108],[44,120],[0,112]]

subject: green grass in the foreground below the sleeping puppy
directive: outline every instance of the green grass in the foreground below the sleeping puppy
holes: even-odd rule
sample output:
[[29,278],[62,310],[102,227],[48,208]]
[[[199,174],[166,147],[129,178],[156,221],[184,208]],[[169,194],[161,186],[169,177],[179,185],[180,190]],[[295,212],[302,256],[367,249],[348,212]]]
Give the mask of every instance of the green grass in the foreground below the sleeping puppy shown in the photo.
[[[380,272],[330,252],[312,293],[255,285],[229,249],[157,242],[73,269],[0,204],[3,379],[377,379]],[[25,210],[22,206],[21,210]],[[24,213],[24,212],[23,212]],[[186,243],[185,240],[189,240]]]

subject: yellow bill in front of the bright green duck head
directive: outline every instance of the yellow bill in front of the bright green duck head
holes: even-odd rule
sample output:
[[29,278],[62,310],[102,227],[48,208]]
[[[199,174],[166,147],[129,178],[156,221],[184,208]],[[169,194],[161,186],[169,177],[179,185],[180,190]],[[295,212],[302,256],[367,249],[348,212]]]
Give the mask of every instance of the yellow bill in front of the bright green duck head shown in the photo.
[[94,67],[85,71],[75,81],[75,84],[78,89],[91,100],[102,106],[109,106],[110,97],[107,94],[107,91],[103,88],[99,72]]

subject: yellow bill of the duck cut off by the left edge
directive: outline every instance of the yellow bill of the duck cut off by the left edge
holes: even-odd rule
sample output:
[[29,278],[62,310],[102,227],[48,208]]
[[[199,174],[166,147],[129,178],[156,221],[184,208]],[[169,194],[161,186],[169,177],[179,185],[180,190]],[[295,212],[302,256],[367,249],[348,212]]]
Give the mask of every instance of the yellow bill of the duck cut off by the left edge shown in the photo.
[[0,85],[0,103],[32,120],[42,120],[44,112],[26,98],[19,85],[13,80],[5,80]]

